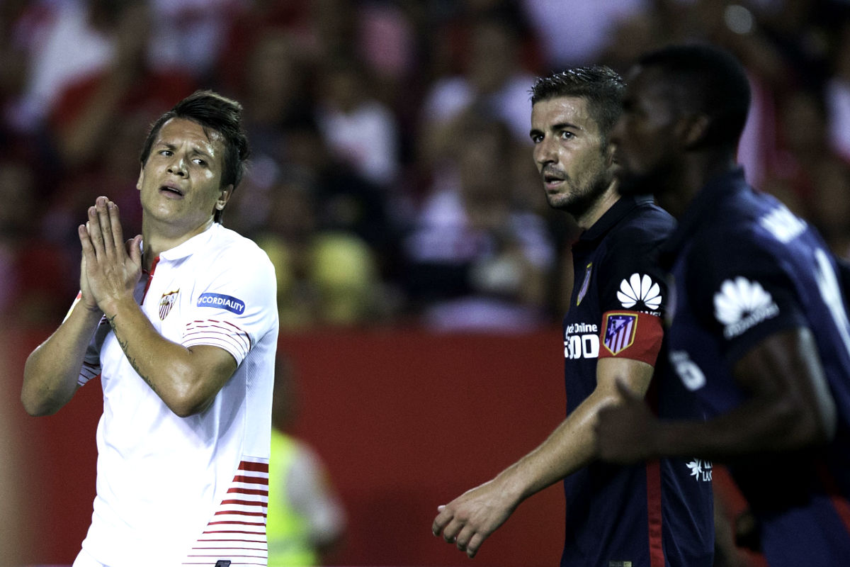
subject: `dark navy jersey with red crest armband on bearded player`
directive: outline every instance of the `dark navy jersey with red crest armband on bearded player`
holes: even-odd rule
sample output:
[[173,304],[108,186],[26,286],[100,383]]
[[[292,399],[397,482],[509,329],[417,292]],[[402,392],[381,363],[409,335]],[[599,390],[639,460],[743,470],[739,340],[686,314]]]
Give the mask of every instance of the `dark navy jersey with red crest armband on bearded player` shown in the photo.
[[[596,388],[599,357],[655,365],[667,299],[656,256],[674,224],[651,199],[624,197],[573,246],[575,285],[564,317],[568,413]],[[649,403],[666,417],[701,416],[694,396],[665,376],[664,366],[656,366]],[[594,462],[564,479],[564,493],[562,566],[712,564],[710,462],[663,459],[633,467]]]

